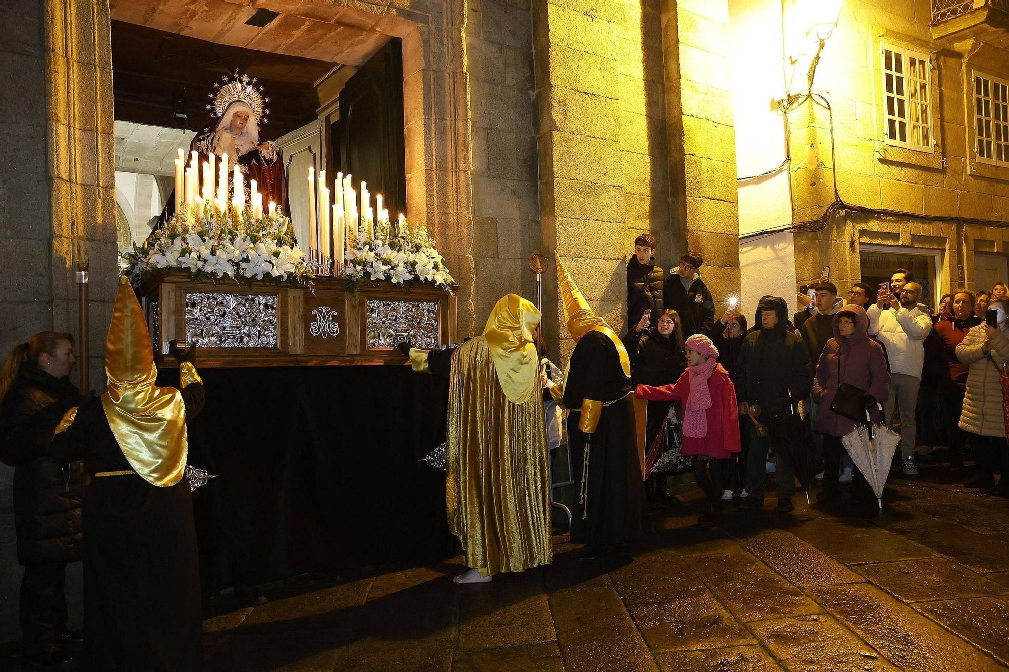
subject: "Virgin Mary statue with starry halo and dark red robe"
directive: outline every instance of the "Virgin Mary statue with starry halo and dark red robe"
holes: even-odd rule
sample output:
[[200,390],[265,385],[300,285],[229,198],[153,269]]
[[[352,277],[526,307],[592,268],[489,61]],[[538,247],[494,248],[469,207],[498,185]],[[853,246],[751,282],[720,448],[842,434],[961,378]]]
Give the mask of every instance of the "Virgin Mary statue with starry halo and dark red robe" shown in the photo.
[[[228,193],[231,194],[232,169],[245,176],[245,202],[249,199],[249,181],[255,180],[264,204],[273,202],[284,214],[290,215],[288,207],[288,178],[284,173],[284,161],[279,150],[259,135],[259,127],[266,123],[269,110],[265,104],[262,88],[255,78],[238,75],[234,79],[223,78],[223,84],[215,85],[216,94],[210,94],[213,103],[207,106],[213,116],[201,126],[190,143],[190,152],[199,154],[200,165],[210,154],[221,160],[228,156]],[[187,154],[187,160],[189,160]],[[157,222],[160,228],[175,212],[175,198],[169,197],[164,210]]]

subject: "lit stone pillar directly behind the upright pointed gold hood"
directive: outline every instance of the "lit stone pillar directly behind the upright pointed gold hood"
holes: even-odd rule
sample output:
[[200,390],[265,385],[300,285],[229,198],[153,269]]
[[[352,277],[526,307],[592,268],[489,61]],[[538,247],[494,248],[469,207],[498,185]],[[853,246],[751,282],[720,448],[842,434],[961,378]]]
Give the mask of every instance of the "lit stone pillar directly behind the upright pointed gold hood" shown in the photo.
[[[619,3],[541,0],[534,9],[543,243],[557,250],[585,298],[623,324],[624,187],[618,101]],[[573,349],[557,301],[553,259],[544,324],[562,359]]]

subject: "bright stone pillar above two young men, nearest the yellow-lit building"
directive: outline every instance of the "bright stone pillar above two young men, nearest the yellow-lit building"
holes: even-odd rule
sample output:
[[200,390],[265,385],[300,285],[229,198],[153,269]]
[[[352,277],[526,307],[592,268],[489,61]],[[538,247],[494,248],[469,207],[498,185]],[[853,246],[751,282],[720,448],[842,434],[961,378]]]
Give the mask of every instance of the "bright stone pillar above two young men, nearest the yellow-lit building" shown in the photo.
[[716,314],[740,293],[727,0],[662,0],[673,221],[704,257]]

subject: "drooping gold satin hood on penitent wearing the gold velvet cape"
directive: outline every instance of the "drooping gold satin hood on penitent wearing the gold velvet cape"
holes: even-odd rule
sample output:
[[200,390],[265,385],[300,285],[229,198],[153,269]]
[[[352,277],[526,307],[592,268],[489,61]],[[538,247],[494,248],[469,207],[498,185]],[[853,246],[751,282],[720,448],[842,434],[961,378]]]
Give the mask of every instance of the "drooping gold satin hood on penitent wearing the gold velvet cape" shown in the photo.
[[522,297],[510,294],[494,305],[483,328],[490,359],[504,397],[525,404],[538,388],[539,362],[533,332],[540,324],[540,311]]

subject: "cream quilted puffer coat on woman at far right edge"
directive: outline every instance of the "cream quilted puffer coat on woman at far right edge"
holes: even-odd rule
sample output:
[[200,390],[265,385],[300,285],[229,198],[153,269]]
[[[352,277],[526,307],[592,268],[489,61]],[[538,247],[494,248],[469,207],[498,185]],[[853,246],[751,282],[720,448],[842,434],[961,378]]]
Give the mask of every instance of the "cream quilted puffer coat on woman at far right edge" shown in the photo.
[[967,394],[960,427],[982,436],[1005,436],[1005,413],[1002,410],[1002,367],[1009,360],[1009,338],[998,331],[992,351],[985,354],[985,325],[967,332],[957,346],[957,359],[971,366],[967,375]]

